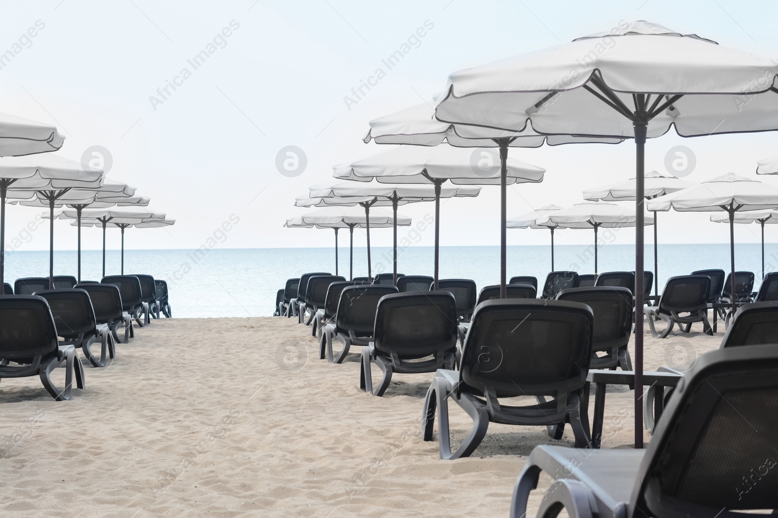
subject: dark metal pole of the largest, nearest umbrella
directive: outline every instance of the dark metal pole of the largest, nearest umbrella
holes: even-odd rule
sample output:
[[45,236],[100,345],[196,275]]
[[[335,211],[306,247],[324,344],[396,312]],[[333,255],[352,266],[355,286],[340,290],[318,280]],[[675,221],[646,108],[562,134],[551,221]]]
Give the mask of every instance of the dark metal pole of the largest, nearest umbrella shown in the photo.
[[[645,99],[643,96],[641,96]],[[641,103],[642,104],[642,103]],[[635,447],[643,448],[643,203],[645,203],[646,133],[648,120],[641,113],[635,128]]]

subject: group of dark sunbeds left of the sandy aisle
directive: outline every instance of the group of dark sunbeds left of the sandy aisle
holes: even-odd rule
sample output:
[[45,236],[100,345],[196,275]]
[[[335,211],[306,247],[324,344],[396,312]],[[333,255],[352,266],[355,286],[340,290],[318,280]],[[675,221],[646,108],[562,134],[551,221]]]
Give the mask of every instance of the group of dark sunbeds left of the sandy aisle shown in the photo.
[[[77,349],[93,367],[106,367],[116,343],[127,343],[135,335],[133,321],[144,327],[160,314],[172,316],[167,283],[150,275],[82,283],[73,276],[55,276],[53,284],[47,277],[26,277],[10,290],[5,283],[0,296],[0,378],[38,376],[57,401],[72,398],[74,375],[76,386],[85,387]],[[99,355],[92,350],[98,343]],[[62,366],[65,388],[57,388],[51,372]]]

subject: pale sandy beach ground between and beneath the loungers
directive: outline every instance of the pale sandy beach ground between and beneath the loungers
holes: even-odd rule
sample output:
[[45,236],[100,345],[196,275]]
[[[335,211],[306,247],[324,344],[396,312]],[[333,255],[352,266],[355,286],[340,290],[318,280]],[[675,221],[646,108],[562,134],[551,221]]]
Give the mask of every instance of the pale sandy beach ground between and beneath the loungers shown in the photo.
[[[647,334],[646,370],[682,367],[721,336]],[[37,377],[4,379],[0,516],[506,516],[532,448],[573,445],[569,427],[555,441],[492,424],[473,457],[440,461],[420,436],[433,374],[395,375],[375,398],[358,358],[318,360],[293,319],[181,318],[137,329],[105,369],[86,364],[70,402]],[[603,447],[633,443],[632,402],[610,388]],[[470,421],[450,410],[458,443]]]

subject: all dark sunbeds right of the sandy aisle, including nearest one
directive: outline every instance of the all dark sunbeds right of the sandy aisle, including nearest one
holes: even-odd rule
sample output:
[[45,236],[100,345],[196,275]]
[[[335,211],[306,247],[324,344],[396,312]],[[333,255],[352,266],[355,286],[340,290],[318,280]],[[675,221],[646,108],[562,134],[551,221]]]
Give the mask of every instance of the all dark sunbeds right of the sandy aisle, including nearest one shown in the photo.
[[[508,287],[513,298],[499,300],[499,287],[476,296],[471,280],[440,280],[433,291],[425,276],[400,276],[394,286],[380,278],[370,283],[309,273],[289,280],[283,297],[279,290],[276,315],[312,325],[320,357],[331,363],[361,346],[360,387],[373,395],[384,395],[394,372],[434,372],[422,433],[433,440],[437,417],[443,459],[471,455],[489,422],[545,426],[555,439],[569,424],[576,448],[535,448],[514,488],[511,516],[526,515],[541,471],[554,481],[538,516],[556,516],[562,507],[569,516],[637,516],[635,509],[650,509],[647,516],[741,516],[726,509],[778,508],[774,481],[755,483],[778,456],[778,273],[766,275],[758,293],[748,288],[748,298],[745,287],[742,297],[736,293],[741,307],[719,351],[701,356],[686,374],[643,374],[651,384],[644,402],[646,426],[654,433],[648,450],[598,449],[606,384],[634,384],[626,349],[634,274],[629,283],[629,273],[604,273],[591,287],[581,287],[580,277],[575,287],[573,276],[558,274],[549,274],[541,293],[551,297],[535,299],[537,284],[524,278]],[[699,272],[668,280],[658,304],[647,308],[652,331],[654,318],[667,317],[663,336],[672,323],[689,332],[692,322],[703,322],[710,332],[703,314],[727,298],[723,282],[715,294],[716,284]],[[712,297],[715,302],[708,302]],[[681,311],[689,308],[696,312]],[[375,386],[372,366],[383,374]],[[520,396],[536,402],[506,401]],[[449,401],[473,419],[471,433],[454,451]],[[751,476],[762,468],[767,471],[759,478]]]

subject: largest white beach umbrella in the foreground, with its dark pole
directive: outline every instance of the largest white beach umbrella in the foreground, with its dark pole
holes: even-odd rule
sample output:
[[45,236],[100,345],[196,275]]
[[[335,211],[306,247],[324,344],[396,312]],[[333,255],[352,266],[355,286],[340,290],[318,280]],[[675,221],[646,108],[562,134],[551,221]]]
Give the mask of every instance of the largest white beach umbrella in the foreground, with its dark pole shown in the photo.
[[[645,21],[457,71],[436,118],[499,130],[634,138],[635,384],[643,384],[643,173],[647,137],[778,129],[778,64]],[[642,391],[635,445],[643,446]]]

